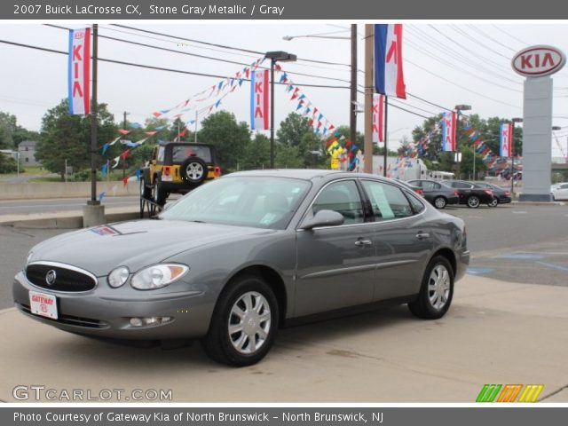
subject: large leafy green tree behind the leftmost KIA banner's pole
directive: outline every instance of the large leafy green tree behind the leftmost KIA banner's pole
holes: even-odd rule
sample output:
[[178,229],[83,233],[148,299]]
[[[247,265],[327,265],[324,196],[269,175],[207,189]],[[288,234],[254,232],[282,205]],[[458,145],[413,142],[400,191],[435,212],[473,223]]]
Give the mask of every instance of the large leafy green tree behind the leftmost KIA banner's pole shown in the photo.
[[[114,116],[106,104],[98,106],[98,144],[102,146],[115,138]],[[40,141],[36,158],[43,167],[65,178],[65,162],[75,170],[89,168],[91,164],[91,116],[68,114],[67,99],[51,108],[42,119]],[[100,163],[100,158],[98,159]],[[99,164],[98,164],[99,167]]]

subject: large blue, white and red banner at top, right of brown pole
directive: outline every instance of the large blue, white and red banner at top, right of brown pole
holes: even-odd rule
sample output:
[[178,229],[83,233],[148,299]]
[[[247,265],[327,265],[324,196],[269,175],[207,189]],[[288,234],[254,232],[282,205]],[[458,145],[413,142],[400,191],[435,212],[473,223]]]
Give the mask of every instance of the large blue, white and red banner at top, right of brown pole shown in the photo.
[[406,99],[402,71],[402,24],[375,25],[375,89]]

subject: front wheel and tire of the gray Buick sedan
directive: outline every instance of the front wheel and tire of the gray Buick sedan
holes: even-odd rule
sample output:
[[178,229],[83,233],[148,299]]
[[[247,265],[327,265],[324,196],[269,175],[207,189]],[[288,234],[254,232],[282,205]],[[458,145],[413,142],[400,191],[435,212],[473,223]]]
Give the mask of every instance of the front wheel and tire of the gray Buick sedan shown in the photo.
[[219,296],[209,332],[201,343],[210,359],[234,367],[251,366],[270,351],[278,322],[278,302],[272,288],[255,275],[243,275]]

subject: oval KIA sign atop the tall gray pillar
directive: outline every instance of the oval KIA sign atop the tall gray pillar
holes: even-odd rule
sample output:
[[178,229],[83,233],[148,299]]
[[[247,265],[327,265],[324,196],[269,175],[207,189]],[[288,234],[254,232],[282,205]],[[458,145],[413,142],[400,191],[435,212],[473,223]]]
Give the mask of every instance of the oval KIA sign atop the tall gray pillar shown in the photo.
[[564,67],[566,56],[556,47],[539,45],[519,51],[511,61],[517,74],[525,77],[541,77],[554,74]]

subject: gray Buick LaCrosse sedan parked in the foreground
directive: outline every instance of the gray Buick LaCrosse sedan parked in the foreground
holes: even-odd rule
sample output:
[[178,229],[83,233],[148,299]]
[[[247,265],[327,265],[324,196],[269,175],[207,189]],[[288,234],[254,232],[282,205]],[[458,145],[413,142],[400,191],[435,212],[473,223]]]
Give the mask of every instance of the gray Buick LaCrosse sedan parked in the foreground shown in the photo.
[[463,221],[396,182],[330,170],[256,170],[193,190],[155,220],[32,248],[20,312],[80,335],[201,339],[246,366],[279,327],[322,312],[408,304],[442,317],[469,264]]

